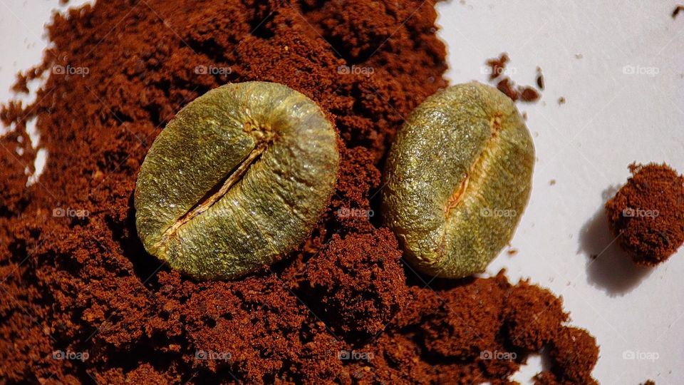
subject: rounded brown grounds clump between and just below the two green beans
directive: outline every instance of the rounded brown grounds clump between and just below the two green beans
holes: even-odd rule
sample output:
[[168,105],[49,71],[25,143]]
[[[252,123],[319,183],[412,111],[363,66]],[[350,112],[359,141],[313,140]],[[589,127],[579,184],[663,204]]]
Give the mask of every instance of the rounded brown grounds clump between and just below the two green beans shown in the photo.
[[333,235],[306,265],[301,297],[336,333],[373,337],[408,300],[397,249],[394,235],[385,228],[344,239]]

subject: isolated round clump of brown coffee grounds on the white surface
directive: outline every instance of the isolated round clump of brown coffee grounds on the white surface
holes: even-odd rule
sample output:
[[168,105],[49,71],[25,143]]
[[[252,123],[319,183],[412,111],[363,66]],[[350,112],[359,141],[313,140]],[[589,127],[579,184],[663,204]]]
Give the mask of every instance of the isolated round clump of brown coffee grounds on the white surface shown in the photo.
[[655,266],[684,242],[684,177],[664,163],[629,170],[632,177],[606,202],[608,224],[637,265]]

